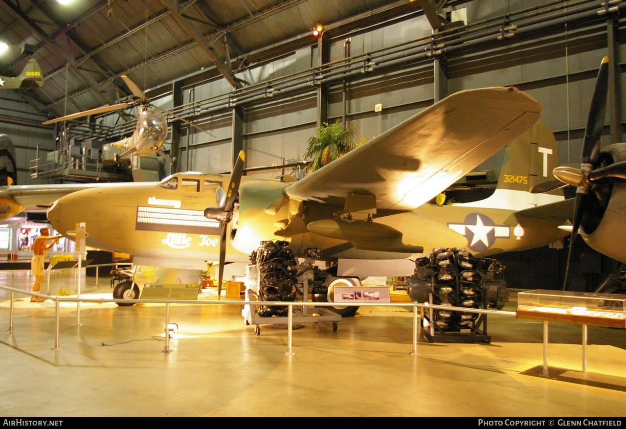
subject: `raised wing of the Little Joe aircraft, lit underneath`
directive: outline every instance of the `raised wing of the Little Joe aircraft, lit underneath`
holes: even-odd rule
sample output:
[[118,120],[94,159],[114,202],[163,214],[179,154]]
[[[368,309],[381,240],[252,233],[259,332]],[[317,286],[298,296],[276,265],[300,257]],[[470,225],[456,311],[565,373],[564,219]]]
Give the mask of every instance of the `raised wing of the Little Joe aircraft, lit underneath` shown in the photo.
[[[541,106],[516,88],[444,98],[287,187],[290,198],[404,211],[433,199],[530,128]],[[356,195],[356,196],[355,196]],[[370,205],[371,207],[366,207]],[[361,211],[354,210],[354,211]]]

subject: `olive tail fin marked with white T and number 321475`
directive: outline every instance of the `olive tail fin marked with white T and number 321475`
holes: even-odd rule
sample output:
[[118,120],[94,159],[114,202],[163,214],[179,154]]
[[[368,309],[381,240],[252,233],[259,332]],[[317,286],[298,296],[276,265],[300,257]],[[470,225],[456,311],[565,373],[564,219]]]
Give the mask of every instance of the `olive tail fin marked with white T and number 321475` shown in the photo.
[[463,205],[523,210],[563,200],[563,190],[533,194],[540,183],[552,182],[552,170],[558,166],[557,143],[547,125],[536,122],[506,147],[498,185],[485,200]]

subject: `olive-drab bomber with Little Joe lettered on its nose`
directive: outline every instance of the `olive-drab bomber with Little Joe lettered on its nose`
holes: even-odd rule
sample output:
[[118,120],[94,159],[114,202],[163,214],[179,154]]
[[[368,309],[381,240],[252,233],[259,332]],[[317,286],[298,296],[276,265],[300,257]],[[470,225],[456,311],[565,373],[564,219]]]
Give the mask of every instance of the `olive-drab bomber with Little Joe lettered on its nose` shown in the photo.
[[[561,191],[528,192],[557,165],[552,133],[533,127],[540,114],[515,88],[461,91],[298,182],[242,177],[240,153],[230,178],[177,173],[81,190],[56,201],[48,219],[61,234],[86,222],[88,246],[133,254],[136,264],[223,267],[247,262],[261,242],[286,240],[296,256],[314,248],[320,260],[338,261],[337,276],[407,276],[410,259],[435,247],[490,255],[567,235],[557,226],[572,205]],[[428,204],[514,139],[489,199]],[[354,272],[357,261],[367,268]]]

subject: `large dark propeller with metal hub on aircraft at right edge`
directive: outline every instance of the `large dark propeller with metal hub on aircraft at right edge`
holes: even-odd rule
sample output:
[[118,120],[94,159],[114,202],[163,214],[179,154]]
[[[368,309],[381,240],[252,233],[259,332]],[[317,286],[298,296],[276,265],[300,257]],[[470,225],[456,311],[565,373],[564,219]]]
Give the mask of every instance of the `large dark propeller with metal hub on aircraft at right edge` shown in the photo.
[[600,70],[598,70],[598,77],[593,90],[592,103],[587,116],[585,138],[583,139],[583,147],[580,153],[580,169],[562,166],[553,170],[554,177],[560,180],[560,182],[577,187],[572,218],[572,235],[570,236],[567,265],[565,266],[565,279],[563,280],[564,291],[569,283],[570,262],[572,261],[574,244],[578,236],[578,228],[580,228],[583,219],[583,211],[590,204],[588,194],[591,189],[591,182],[600,177],[607,177],[603,173],[594,173],[594,170],[600,163],[600,137],[602,137],[602,127],[604,126],[604,115],[607,106],[607,87],[608,56],[605,56],[602,59],[602,63],[600,63]]

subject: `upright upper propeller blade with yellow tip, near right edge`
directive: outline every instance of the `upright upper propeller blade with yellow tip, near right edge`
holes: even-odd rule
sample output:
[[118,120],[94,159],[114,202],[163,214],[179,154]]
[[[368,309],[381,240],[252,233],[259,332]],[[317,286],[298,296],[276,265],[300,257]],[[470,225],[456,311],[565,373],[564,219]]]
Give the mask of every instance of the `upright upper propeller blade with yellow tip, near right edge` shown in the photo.
[[608,56],[605,56],[602,58],[598,78],[595,81],[580,162],[589,162],[594,165],[597,163],[600,154],[600,137],[602,136],[602,127],[604,127],[604,114],[607,108],[607,87]]

